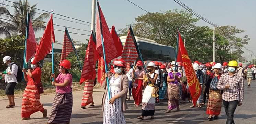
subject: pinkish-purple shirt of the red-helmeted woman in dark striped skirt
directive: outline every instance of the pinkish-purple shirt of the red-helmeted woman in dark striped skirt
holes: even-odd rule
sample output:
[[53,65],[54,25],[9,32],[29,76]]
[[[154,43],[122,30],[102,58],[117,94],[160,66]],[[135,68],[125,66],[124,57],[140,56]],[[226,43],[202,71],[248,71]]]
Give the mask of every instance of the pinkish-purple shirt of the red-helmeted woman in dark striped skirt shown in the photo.
[[69,83],[65,87],[56,86],[57,93],[70,93],[71,92],[71,84],[72,84],[72,75],[70,73],[63,75],[60,73],[56,78],[57,83],[64,83],[65,80],[68,80]]

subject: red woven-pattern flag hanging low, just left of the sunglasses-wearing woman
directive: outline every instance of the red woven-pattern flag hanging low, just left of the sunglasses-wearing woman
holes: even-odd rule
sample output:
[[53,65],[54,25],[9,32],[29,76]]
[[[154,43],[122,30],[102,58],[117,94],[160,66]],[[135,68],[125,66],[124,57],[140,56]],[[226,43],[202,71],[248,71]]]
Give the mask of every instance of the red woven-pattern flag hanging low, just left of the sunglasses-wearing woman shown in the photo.
[[96,75],[95,63],[97,59],[99,59],[99,56],[97,55],[96,44],[93,41],[95,38],[93,37],[94,35],[92,32],[86,50],[84,67],[80,78],[80,84],[82,84],[84,81],[88,79],[92,80],[94,75]]

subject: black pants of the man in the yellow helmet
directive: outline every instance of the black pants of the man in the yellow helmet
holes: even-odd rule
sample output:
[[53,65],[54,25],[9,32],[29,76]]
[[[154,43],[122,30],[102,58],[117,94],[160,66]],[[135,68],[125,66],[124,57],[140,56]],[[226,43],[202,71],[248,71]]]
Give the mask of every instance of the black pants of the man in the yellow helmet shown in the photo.
[[226,124],[235,124],[234,122],[234,113],[238,105],[238,100],[227,102],[223,100],[223,106],[227,115]]

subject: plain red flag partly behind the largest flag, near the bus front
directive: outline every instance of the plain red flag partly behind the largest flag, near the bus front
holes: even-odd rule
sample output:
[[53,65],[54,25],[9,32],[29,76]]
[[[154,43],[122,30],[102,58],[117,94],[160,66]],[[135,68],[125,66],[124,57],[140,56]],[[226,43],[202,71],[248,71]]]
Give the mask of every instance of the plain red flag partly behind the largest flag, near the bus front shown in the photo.
[[116,48],[118,48],[117,49],[117,55],[115,56],[115,58],[117,58],[117,57],[121,56],[121,54],[122,54],[123,45],[122,45],[122,42],[119,39],[118,34],[117,34],[116,30],[115,30],[115,26],[112,26],[112,28],[111,28],[111,36],[112,36],[112,38],[114,40]]

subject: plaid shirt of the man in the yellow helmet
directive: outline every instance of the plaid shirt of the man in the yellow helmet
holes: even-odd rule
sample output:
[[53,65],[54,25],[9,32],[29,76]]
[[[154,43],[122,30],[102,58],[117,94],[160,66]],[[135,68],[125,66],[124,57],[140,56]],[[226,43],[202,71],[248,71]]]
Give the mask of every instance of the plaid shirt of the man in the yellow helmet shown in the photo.
[[[225,85],[229,85],[229,89],[225,89]],[[233,76],[230,76],[229,73],[222,74],[217,88],[223,90],[222,99],[225,101],[234,101],[238,100],[243,102],[244,99],[244,80],[242,76],[239,76],[235,73]]]

